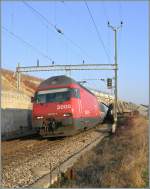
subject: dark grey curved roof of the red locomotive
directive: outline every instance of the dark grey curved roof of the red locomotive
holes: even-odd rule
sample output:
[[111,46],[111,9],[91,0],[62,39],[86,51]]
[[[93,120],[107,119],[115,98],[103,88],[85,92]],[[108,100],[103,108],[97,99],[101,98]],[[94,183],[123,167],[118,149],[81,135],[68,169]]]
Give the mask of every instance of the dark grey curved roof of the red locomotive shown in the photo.
[[40,85],[39,88],[46,88],[50,85],[55,86],[55,85],[68,85],[71,83],[76,83],[78,84],[80,87],[82,87],[84,90],[88,91],[89,93],[91,93],[93,96],[95,96],[94,93],[92,93],[90,90],[88,90],[86,87],[84,87],[83,85],[81,85],[79,82],[75,81],[74,79],[67,77],[65,75],[59,75],[59,76],[53,76],[50,77],[46,80],[44,80]]

